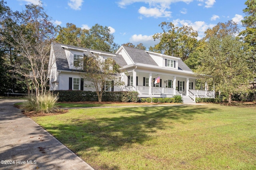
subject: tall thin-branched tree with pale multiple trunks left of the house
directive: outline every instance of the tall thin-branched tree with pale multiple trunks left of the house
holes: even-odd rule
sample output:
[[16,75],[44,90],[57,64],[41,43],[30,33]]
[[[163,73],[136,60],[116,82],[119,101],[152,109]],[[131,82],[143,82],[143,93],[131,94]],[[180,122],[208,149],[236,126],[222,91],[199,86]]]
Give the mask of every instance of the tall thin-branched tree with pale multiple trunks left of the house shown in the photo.
[[45,94],[48,82],[48,59],[54,26],[40,5],[26,5],[26,10],[11,14],[11,26],[6,26],[12,37],[8,43],[15,49],[14,72],[34,85],[36,95]]

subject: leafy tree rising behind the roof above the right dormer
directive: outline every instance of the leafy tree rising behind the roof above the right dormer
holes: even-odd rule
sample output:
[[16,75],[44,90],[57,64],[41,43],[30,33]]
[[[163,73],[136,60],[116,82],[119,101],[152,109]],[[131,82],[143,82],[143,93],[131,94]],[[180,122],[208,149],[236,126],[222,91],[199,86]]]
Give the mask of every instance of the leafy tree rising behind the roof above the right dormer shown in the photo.
[[159,39],[160,42],[154,47],[150,47],[150,51],[179,57],[183,61],[188,59],[197,44],[197,31],[185,25],[175,27],[171,22],[162,22],[159,26],[163,33],[156,33],[153,38],[154,40]]

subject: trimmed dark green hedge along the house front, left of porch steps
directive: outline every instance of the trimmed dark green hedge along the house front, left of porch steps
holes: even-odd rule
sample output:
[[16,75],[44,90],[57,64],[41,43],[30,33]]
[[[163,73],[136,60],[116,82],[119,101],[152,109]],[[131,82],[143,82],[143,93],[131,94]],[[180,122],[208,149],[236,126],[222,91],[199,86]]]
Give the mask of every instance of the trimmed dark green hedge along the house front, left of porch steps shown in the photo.
[[[54,90],[58,95],[58,102],[98,101],[96,92],[81,90]],[[102,102],[138,102],[138,92],[104,92]]]

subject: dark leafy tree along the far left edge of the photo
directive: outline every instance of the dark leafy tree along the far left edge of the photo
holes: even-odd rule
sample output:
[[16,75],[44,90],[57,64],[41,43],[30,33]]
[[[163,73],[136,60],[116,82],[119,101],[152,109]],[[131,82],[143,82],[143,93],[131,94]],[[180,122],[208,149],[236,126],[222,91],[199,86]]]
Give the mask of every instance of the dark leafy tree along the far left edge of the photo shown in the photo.
[[20,74],[11,71],[14,70],[14,61],[17,56],[12,46],[15,42],[9,30],[12,29],[12,25],[15,23],[12,20],[12,10],[5,4],[6,2],[0,0],[0,94],[4,94],[8,89],[24,93],[26,92],[24,78]]

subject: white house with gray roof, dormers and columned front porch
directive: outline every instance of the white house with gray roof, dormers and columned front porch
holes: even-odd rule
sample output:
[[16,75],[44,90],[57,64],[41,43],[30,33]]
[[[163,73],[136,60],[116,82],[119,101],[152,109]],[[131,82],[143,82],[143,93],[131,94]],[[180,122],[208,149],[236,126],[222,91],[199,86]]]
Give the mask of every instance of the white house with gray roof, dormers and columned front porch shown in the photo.
[[51,47],[50,90],[92,91],[91,82],[81,78],[81,68],[76,66],[79,59],[91,55],[112,58],[121,67],[121,74],[116,76],[125,85],[118,87],[107,82],[106,91],[137,91],[141,98],[181,94],[184,102],[195,102],[196,97],[215,97],[214,91],[195,90],[197,77],[180,58],[126,46],[114,54],[60,43],[52,43]]

